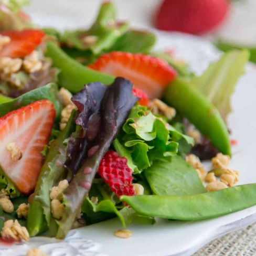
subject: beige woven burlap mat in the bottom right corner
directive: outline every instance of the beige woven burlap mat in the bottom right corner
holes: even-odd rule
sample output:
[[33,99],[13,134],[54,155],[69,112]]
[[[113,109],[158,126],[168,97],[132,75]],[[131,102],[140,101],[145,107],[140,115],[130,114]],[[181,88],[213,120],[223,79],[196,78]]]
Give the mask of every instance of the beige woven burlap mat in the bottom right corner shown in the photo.
[[256,256],[256,223],[215,239],[193,256],[203,255]]

